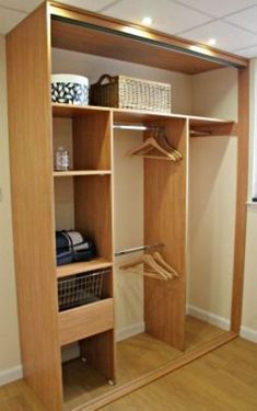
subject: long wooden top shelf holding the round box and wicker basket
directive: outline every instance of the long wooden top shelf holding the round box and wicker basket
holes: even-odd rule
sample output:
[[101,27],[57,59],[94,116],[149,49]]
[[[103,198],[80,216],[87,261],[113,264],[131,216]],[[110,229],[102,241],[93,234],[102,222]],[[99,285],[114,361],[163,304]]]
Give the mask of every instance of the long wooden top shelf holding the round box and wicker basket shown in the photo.
[[102,106],[78,106],[69,104],[57,104],[52,103],[52,115],[54,117],[78,117],[86,116],[93,113],[113,113],[114,122],[117,123],[136,123],[143,124],[162,119],[187,119],[189,122],[189,128],[192,133],[192,137],[203,135],[235,135],[236,125],[233,121],[192,116],[185,114],[174,113],[154,113],[142,110],[127,110],[127,109],[114,109],[114,107],[102,107]]

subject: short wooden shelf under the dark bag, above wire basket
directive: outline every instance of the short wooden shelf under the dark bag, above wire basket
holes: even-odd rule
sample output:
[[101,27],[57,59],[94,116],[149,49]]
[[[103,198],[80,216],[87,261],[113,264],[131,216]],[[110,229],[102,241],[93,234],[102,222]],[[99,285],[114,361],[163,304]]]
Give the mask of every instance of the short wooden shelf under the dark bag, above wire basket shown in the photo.
[[57,278],[66,277],[72,274],[86,273],[89,271],[112,267],[110,260],[98,258],[92,261],[60,265],[57,267]]

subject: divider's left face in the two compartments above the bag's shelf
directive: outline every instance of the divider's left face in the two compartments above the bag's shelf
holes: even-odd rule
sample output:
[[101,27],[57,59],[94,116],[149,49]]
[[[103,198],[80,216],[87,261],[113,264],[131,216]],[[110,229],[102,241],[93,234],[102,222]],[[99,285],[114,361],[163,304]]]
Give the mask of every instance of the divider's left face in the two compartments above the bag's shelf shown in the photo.
[[[98,112],[73,119],[74,168],[110,170],[110,113]],[[74,179],[75,227],[92,238],[100,256],[112,260],[110,175]]]

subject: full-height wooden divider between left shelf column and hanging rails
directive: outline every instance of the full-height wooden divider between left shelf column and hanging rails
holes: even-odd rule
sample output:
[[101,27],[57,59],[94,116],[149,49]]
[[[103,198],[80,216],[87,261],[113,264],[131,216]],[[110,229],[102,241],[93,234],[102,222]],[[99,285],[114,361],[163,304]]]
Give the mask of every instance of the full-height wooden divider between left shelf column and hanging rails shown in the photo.
[[[75,228],[96,244],[98,256],[113,260],[113,124],[104,111],[73,118],[75,169],[109,170],[109,175],[74,179]],[[113,297],[113,272],[105,275],[104,294]],[[100,374],[115,380],[114,330],[80,341],[81,354]]]

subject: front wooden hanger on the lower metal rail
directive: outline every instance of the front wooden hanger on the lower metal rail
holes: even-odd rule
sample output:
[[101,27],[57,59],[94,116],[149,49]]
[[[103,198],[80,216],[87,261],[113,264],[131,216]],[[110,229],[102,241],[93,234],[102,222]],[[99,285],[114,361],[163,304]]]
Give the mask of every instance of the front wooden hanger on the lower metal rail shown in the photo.
[[[124,264],[120,266],[121,270],[129,270],[129,269],[135,269],[137,265],[140,265],[140,264],[144,264],[144,275],[147,276],[153,276],[160,278],[160,279],[172,279],[174,276],[173,274],[167,271],[165,267],[161,266],[154,259],[152,255],[150,254],[143,254],[141,255],[139,259],[130,262],[130,263],[127,263],[127,264]],[[133,270],[135,272],[135,270]],[[138,274],[141,274],[141,272],[137,271]],[[149,274],[149,275],[148,275]]]

